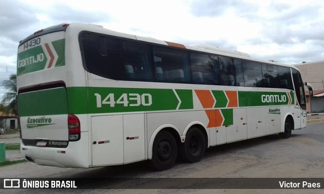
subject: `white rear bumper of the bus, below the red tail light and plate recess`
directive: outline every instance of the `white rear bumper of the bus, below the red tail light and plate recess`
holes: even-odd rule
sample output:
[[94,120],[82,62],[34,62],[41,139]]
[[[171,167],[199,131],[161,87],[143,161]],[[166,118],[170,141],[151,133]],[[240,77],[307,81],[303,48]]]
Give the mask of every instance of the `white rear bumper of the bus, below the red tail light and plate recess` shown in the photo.
[[70,141],[67,148],[48,148],[24,146],[20,143],[23,158],[28,157],[38,165],[56,166],[61,168],[89,168],[88,132],[82,132],[81,139]]

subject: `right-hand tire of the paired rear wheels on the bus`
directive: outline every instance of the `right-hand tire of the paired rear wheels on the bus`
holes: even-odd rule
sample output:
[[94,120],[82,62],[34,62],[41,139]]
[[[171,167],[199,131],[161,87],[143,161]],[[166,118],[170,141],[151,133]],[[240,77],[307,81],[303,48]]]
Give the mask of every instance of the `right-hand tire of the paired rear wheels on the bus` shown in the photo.
[[185,162],[199,162],[205,155],[206,139],[200,129],[193,127],[186,134],[180,146],[180,156]]

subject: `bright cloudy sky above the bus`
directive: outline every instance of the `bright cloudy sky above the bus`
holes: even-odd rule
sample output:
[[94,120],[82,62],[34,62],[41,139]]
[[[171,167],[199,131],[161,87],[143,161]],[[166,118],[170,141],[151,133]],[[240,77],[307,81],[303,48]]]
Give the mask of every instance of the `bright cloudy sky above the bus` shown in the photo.
[[[321,0],[0,0],[0,82],[16,73],[19,41],[82,22],[185,45],[204,43],[252,58],[298,64],[324,60]],[[0,100],[5,92],[0,84]]]

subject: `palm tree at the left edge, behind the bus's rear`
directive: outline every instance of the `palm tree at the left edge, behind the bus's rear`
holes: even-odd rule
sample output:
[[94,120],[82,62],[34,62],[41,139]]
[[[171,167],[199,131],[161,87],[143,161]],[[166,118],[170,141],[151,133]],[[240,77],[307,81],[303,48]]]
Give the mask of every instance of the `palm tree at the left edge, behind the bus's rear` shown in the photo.
[[2,82],[6,90],[8,90],[1,101],[2,104],[8,104],[5,113],[13,113],[18,115],[18,95],[17,95],[17,75],[11,74],[8,80]]

